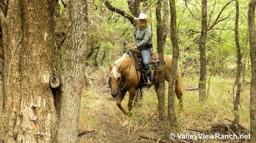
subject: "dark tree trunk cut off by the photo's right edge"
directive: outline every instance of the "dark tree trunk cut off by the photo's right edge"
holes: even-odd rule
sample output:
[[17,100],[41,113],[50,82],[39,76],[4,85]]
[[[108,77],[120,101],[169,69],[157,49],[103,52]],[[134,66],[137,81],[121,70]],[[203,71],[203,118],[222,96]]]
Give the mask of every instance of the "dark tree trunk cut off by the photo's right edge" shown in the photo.
[[248,21],[250,33],[251,90],[250,90],[250,142],[256,142],[256,39],[255,39],[255,0],[249,4]]

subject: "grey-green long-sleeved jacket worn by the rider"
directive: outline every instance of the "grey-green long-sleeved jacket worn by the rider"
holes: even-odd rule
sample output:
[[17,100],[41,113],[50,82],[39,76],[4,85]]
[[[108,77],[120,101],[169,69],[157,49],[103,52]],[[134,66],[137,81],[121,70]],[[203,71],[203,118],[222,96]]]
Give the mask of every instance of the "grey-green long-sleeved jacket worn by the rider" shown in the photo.
[[149,27],[144,26],[143,30],[141,30],[141,27],[138,28],[136,32],[136,43],[135,45],[138,48],[144,48],[145,44],[152,44],[151,43],[151,36],[152,32]]

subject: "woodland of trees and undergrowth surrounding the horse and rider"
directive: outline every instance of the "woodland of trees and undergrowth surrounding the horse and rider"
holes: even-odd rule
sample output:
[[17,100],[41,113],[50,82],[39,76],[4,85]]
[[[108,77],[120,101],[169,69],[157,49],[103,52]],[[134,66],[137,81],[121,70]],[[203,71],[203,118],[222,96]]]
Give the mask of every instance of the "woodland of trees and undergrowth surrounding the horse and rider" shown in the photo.
[[[206,27],[202,25],[203,2],[207,4]],[[176,23],[164,13],[166,4],[169,9],[174,3]],[[5,101],[1,136],[5,142],[172,141],[168,135],[173,133],[170,126],[174,123],[168,122],[167,113],[163,119],[150,118],[158,100],[153,97],[154,91],[145,91],[128,127],[122,127],[126,117],[109,99],[108,64],[129,50],[126,42],[134,43],[138,26],[134,17],[140,12],[153,19],[150,27],[155,52],[161,52],[158,38],[166,36],[162,51],[174,53],[177,46],[169,27],[176,25],[178,61],[187,89],[184,112],[178,111],[177,99],[174,104],[175,124],[181,128],[178,132],[255,134],[251,124],[255,91],[250,85],[255,73],[251,60],[255,30],[250,28],[255,1],[2,1],[1,6],[0,57]],[[166,29],[159,34],[164,20]],[[205,56],[201,55],[200,46],[203,28],[207,33]],[[204,80],[200,79],[202,59],[207,60]],[[237,75],[239,72],[241,76]],[[49,86],[52,75],[61,80],[61,87],[56,90]],[[200,92],[190,91],[198,87],[200,91],[199,83],[205,85],[201,89],[203,100]],[[84,135],[77,139],[78,131]],[[195,142],[205,141],[255,142],[255,136],[251,140]]]

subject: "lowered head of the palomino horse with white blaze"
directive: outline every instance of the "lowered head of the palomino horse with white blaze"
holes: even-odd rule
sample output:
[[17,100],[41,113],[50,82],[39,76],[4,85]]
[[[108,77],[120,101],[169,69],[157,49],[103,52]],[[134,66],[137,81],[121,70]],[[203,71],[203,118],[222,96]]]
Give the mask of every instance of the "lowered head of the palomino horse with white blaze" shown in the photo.
[[111,95],[113,98],[116,98],[119,94],[119,89],[121,85],[121,72],[118,70],[116,64],[110,66],[110,75],[109,75],[109,84],[111,89]]

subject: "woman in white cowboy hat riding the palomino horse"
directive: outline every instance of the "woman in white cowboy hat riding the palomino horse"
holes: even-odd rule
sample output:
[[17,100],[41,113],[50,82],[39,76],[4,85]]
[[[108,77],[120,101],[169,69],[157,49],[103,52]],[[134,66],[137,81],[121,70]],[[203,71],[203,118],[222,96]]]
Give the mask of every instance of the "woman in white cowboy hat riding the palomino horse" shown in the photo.
[[148,18],[145,13],[140,13],[139,17],[135,17],[135,19],[139,21],[139,28],[136,32],[136,43],[132,47],[132,51],[140,50],[144,71],[150,80],[148,87],[151,87],[153,85],[152,69],[150,66],[152,32],[147,24],[150,24],[152,19]]

